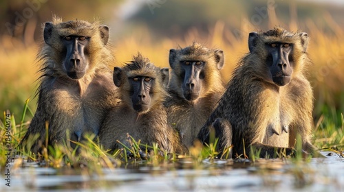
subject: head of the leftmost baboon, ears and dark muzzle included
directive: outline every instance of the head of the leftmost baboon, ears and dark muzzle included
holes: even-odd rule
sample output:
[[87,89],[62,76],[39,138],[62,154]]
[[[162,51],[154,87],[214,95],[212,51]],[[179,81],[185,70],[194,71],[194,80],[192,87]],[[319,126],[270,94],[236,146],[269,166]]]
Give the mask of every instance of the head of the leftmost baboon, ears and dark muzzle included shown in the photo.
[[98,29],[85,21],[45,23],[45,43],[56,49],[54,51],[60,55],[60,58],[56,58],[56,63],[61,64],[59,70],[73,80],[82,78],[87,69],[92,67],[89,57],[95,51],[90,47],[98,47],[99,43],[96,45],[96,41],[102,42],[103,45],[107,44],[109,28],[105,25],[97,27]]

